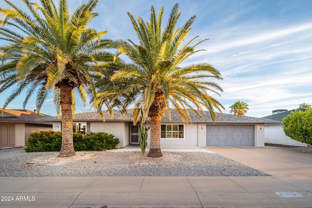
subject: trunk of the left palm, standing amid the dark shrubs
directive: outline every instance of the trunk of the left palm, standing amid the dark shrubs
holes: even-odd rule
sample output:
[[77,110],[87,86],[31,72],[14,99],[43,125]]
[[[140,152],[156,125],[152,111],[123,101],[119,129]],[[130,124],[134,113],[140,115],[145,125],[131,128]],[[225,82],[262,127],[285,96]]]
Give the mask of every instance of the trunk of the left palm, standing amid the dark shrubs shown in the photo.
[[73,142],[72,87],[68,84],[60,84],[59,88],[62,113],[62,146],[59,157],[70,157],[76,154]]

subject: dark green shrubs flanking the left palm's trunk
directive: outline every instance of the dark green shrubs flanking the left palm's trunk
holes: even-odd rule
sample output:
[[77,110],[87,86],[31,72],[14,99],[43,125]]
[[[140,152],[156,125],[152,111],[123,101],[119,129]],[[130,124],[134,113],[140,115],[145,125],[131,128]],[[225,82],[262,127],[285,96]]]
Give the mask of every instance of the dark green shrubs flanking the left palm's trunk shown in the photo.
[[[62,132],[40,131],[33,132],[28,137],[26,152],[31,151],[60,151]],[[105,132],[73,135],[75,151],[104,151],[115,149],[119,139]]]

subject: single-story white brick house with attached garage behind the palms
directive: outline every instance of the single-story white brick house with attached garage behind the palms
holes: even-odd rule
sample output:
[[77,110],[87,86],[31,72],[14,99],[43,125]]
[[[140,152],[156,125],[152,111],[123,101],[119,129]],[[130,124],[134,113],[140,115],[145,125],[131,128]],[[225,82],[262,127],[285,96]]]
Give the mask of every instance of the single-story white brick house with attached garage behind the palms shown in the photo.
[[[218,122],[212,122],[209,113],[201,113],[201,120],[190,111],[192,124],[183,123],[176,110],[171,109],[171,119],[168,111],[161,119],[161,146],[264,146],[264,126],[276,123],[271,119],[217,113]],[[114,110],[114,118],[103,112],[106,121],[97,112],[77,113],[73,118],[76,132],[107,132],[115,135],[119,140],[119,147],[138,144],[139,126],[133,126],[132,110],[122,116]],[[61,131],[61,119],[48,117],[40,119],[53,122],[53,130]],[[149,120],[146,125],[149,126]],[[148,141],[150,136],[148,137]]]

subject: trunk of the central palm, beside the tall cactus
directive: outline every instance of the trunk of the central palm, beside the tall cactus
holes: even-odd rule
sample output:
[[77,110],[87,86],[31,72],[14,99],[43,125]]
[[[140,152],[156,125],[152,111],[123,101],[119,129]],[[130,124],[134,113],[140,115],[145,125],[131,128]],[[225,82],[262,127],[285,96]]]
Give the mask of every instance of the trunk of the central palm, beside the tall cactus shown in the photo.
[[151,117],[151,143],[150,151],[147,156],[161,157],[160,150],[160,130],[161,130],[161,117],[166,109],[165,96],[161,90],[156,91],[153,103],[148,111],[148,116]]

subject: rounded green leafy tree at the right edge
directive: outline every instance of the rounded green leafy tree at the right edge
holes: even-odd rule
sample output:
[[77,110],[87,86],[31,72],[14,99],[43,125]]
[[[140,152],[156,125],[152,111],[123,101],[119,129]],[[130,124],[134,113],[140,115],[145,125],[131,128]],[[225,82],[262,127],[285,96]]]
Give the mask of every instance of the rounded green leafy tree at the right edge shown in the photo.
[[312,109],[294,111],[282,120],[286,136],[312,145]]

